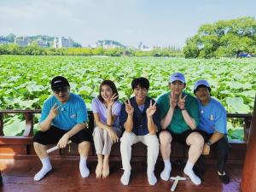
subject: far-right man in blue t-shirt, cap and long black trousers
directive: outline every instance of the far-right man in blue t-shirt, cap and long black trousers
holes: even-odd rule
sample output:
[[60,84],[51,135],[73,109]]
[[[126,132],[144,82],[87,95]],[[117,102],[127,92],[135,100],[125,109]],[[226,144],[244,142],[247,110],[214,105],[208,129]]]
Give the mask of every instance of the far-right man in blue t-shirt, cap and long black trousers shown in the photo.
[[[205,139],[203,155],[208,155],[213,146],[218,150],[218,177],[223,183],[229,183],[230,177],[224,172],[228,158],[229,143],[227,138],[227,114],[220,102],[210,96],[211,88],[206,80],[195,83],[194,93],[197,97],[200,110],[200,123],[198,129]],[[198,169],[203,169],[204,157],[198,160]]]

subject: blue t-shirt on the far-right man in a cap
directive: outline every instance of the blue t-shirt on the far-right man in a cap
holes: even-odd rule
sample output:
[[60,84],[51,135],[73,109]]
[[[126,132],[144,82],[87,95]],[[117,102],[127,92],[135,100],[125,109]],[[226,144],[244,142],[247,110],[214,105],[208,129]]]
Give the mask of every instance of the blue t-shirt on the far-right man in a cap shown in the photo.
[[218,131],[227,134],[227,113],[220,102],[211,98],[206,106],[203,106],[199,100],[200,123],[198,128],[212,134]]

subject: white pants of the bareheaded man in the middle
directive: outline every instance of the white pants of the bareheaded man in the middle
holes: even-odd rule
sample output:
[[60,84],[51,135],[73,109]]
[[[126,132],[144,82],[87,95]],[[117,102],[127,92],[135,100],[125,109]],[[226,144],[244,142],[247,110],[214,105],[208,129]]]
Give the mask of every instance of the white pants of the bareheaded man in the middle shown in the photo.
[[148,147],[148,171],[154,172],[154,165],[159,154],[159,140],[156,135],[137,136],[133,132],[124,132],[123,137],[120,139],[122,165],[125,171],[131,171],[131,145],[142,142]]

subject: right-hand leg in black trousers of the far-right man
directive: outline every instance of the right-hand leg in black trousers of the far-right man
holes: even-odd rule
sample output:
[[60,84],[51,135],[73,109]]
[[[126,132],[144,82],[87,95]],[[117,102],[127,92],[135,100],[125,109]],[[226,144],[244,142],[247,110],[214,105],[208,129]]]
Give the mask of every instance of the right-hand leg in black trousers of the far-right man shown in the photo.
[[228,138],[226,136],[222,137],[216,143],[217,150],[218,150],[218,160],[217,160],[217,167],[218,167],[218,177],[223,183],[230,183],[230,177],[225,174],[224,167],[226,165],[226,161],[228,159],[229,154],[229,143]]

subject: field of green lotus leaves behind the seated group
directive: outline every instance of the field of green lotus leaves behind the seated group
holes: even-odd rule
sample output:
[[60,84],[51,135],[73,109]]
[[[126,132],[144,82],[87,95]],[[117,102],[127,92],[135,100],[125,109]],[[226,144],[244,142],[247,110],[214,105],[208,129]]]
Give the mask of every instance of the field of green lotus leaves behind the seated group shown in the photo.
[[[80,50],[83,53],[83,49]],[[207,79],[212,86],[212,96],[224,105],[228,113],[251,113],[256,90],[254,58],[205,60],[163,57],[0,55],[0,68],[1,109],[41,108],[45,99],[51,94],[49,81],[55,75],[67,77],[72,92],[82,96],[89,109],[91,100],[99,93],[99,84],[103,79],[113,80],[119,90],[121,101],[131,96],[131,80],[136,77],[149,79],[148,94],[153,98],[169,90],[167,85],[171,73],[185,74],[186,91],[192,95],[195,81]],[[6,119],[5,124],[9,125],[8,128],[24,127],[22,117],[13,118],[15,117]],[[241,122],[233,124],[231,130],[241,127]],[[7,131],[7,128],[5,129]],[[22,129],[12,131],[21,134]]]

